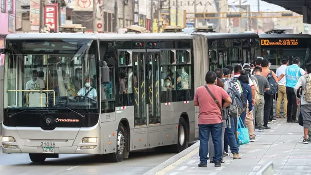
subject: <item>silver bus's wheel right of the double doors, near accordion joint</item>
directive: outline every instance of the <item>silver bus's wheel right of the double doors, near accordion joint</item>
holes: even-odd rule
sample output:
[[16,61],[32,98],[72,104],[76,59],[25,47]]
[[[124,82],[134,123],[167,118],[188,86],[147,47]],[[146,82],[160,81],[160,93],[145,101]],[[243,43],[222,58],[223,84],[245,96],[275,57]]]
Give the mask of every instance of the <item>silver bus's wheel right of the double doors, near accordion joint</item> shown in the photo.
[[188,147],[188,124],[183,117],[179,118],[177,144],[174,146],[173,152],[180,153]]

